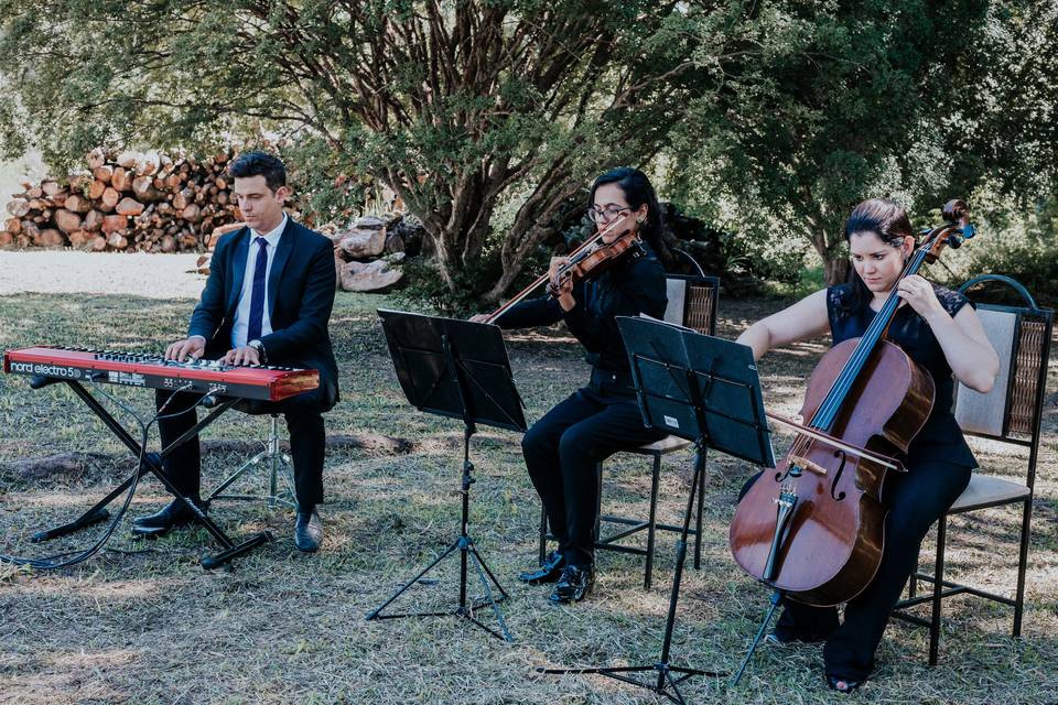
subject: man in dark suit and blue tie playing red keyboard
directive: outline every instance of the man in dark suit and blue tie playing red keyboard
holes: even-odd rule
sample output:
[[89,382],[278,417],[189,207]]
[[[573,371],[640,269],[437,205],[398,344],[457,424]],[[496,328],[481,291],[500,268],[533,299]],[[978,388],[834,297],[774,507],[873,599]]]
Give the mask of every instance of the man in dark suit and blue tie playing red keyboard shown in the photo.
[[[170,345],[165,357],[320,371],[320,388],[311,392],[277,403],[236,406],[251,413],[284,414],[298,495],[294,543],[301,551],[316,551],[323,540],[316,511],[323,501],[326,445],[322,414],[338,401],[338,371],[327,333],[334,305],[334,248],[327,238],[283,212],[290,189],[279,159],[247,152],[231,162],[228,174],[247,227],[217,242],[187,337]],[[198,401],[198,394],[158,392],[158,408],[164,406],[159,420],[163,447],[197,423],[194,405]],[[177,446],[164,462],[166,476],[201,507],[199,465],[197,438]],[[158,513],[137,519],[132,531],[160,535],[193,519],[191,509],[174,499]]]

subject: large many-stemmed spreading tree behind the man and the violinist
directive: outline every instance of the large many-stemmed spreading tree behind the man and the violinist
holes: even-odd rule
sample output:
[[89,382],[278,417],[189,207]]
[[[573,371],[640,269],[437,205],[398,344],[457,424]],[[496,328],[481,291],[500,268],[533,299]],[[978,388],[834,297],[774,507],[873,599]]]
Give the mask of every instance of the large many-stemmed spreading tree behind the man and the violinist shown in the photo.
[[[331,153],[320,163],[389,184],[449,289],[495,300],[586,178],[666,144],[701,51],[692,4],[0,0],[19,97],[4,138],[54,162],[115,141],[294,134]],[[494,235],[510,193],[520,206]]]

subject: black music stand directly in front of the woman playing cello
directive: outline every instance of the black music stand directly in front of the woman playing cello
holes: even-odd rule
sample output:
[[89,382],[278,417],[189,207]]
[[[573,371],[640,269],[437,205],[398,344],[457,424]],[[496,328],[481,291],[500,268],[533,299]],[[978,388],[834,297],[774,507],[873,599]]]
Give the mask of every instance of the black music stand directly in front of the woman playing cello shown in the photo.
[[[654,318],[618,316],[617,325],[628,350],[643,421],[694,442],[694,474],[688,492],[676,571],[665,623],[661,657],[657,662],[594,669],[537,669],[540,673],[595,673],[645,687],[673,703],[685,703],[679,684],[694,675],[724,673],[671,665],[676,606],[687,557],[687,536],[694,513],[695,488],[705,468],[710,447],[758,465],[775,466],[769,431],[760,398],[753,352],[744,345],[703,335]],[[640,681],[635,673],[656,672]],[[673,675],[677,674],[677,675]]]

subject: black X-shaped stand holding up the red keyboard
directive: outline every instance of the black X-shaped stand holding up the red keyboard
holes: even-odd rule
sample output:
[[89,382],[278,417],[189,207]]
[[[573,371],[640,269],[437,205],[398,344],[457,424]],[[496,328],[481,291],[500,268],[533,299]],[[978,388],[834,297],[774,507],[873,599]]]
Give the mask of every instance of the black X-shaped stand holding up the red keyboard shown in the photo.
[[[235,542],[231,541],[231,539],[228,538],[228,535],[224,532],[223,529],[220,529],[220,527],[214,523],[214,521],[206,516],[205,511],[203,511],[203,508],[196,507],[187,497],[182,495],[180,490],[177,490],[176,487],[173,486],[172,481],[168,477],[165,477],[165,473],[162,470],[162,459],[166,455],[171,454],[176,446],[195,437],[203,429],[212,424],[214,421],[217,420],[217,417],[220,414],[223,414],[225,411],[230,409],[236,402],[238,402],[239,401],[238,399],[226,398],[218,401],[216,406],[206,415],[206,417],[199,421],[197,424],[195,424],[195,426],[188,430],[187,433],[185,433],[181,437],[173,441],[169,446],[162,448],[160,453],[147,453],[143,446],[141,446],[140,443],[134,437],[132,437],[132,434],[130,434],[125,429],[125,426],[118,423],[117,419],[115,419],[109,411],[104,409],[104,406],[96,400],[95,397],[93,397],[88,392],[87,389],[85,389],[80,384],[80,382],[77,382],[74,380],[55,380],[55,379],[35,377],[31,380],[30,386],[33,389],[40,389],[41,387],[46,387],[47,384],[54,383],[57,381],[65,382],[72,390],[74,390],[74,393],[77,394],[80,398],[80,400],[85,402],[88,409],[90,409],[93,413],[99,416],[99,419],[102,420],[102,422],[107,425],[107,427],[110,429],[114,435],[116,435],[118,440],[121,441],[121,443],[123,443],[129,448],[129,452],[132,453],[133,457],[142,458],[140,462],[139,477],[142,477],[148,473],[153,474],[154,477],[156,477],[159,481],[162,482],[162,485],[165,487],[165,490],[170,495],[172,495],[177,499],[182,499],[187,505],[187,507],[191,508],[192,512],[195,514],[195,520],[198,523],[201,523],[203,527],[205,527],[206,531],[208,531],[209,534],[213,535],[213,538],[217,541],[217,543],[220,544],[222,550],[219,552],[213,555],[204,555],[202,557],[202,567],[204,568],[218,567],[220,565],[224,565],[231,558],[239,556],[246,553],[247,551],[253,547],[257,547],[263,543],[268,543],[269,541],[272,540],[271,533],[269,533],[268,531],[262,531],[247,539],[242,543],[236,544]],[[109,505],[119,496],[128,491],[129,486],[132,484],[132,480],[133,478],[130,477],[129,479],[121,482],[121,485],[119,485],[118,487],[115,487],[109,495],[107,495],[106,497],[100,499],[98,502],[96,502],[88,511],[83,513],[80,517],[78,517],[74,521],[65,523],[61,527],[55,527],[53,529],[45,529],[36,532],[35,534],[33,534],[32,541],[39,543],[41,541],[47,541],[50,539],[55,539],[57,536],[64,536],[75,531],[79,531],[86,527],[90,527],[93,524],[105,521],[107,518],[110,517],[110,512],[107,511],[106,509],[107,505]]]

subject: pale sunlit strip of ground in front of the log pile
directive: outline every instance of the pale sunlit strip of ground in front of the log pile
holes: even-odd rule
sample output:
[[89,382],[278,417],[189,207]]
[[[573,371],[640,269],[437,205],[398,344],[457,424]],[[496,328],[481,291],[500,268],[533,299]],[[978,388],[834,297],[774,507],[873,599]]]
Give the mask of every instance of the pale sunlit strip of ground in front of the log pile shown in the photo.
[[197,254],[0,251],[0,296],[22,293],[127,294],[197,299],[206,278]]

